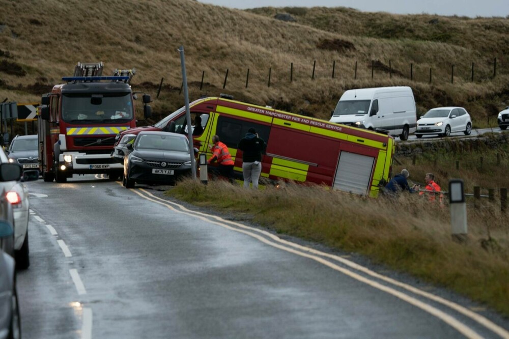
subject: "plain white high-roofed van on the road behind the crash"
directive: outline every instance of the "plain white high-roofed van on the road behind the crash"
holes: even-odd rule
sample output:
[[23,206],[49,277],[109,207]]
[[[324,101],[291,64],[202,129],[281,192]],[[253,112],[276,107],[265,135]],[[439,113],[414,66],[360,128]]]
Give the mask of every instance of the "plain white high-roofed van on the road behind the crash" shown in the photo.
[[417,126],[412,89],[399,86],[348,90],[337,102],[330,122],[387,130],[406,140]]

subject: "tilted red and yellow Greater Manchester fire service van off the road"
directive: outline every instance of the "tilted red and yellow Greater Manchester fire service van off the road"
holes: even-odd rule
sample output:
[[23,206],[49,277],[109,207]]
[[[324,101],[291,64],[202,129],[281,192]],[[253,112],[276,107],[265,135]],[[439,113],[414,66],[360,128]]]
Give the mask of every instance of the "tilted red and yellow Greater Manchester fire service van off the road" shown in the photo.
[[[203,127],[200,134],[193,133],[194,147],[209,158],[212,136],[217,134],[228,146],[239,174],[242,151],[237,150],[237,144],[252,127],[267,143],[262,177],[324,184],[370,196],[377,196],[379,185],[389,179],[395,146],[390,135],[234,101],[226,96],[196,100],[189,104],[189,109],[191,121],[200,117],[197,121]],[[153,126],[119,133],[116,152],[124,136],[136,135],[141,130],[187,133],[185,107]]]

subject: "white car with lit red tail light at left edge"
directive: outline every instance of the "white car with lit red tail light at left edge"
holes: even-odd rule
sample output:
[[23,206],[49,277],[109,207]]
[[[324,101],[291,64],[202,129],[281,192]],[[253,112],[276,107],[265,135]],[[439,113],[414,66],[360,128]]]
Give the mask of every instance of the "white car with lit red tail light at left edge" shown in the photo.
[[[20,168],[19,171],[21,171],[21,165],[10,162],[4,150],[0,149],[0,165],[4,164],[17,166]],[[13,168],[15,168],[12,166],[6,168],[10,168],[9,171],[12,172]],[[23,171],[22,178],[24,181],[38,180],[39,171]],[[18,176],[17,179],[0,182],[0,191],[5,192],[1,199],[7,199],[14,211],[14,255],[16,266],[21,269],[28,268],[30,266],[28,235],[30,201],[28,188],[21,182],[20,176]]]

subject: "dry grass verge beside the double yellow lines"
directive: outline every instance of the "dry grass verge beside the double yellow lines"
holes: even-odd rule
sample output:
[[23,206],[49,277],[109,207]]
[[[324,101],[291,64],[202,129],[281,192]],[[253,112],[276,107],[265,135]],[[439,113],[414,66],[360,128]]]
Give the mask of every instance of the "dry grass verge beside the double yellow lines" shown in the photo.
[[[167,194],[334,248],[444,286],[509,315],[507,215],[468,208],[466,243],[451,239],[449,210],[407,194],[369,199],[322,187],[282,184],[246,190],[187,180]],[[489,225],[489,226],[488,226]]]

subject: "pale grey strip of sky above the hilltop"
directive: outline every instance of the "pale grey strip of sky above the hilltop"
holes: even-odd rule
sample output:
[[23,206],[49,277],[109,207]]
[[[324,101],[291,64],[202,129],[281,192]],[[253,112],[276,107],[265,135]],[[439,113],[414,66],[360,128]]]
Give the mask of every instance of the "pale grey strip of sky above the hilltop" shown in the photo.
[[509,0],[200,0],[217,6],[246,9],[256,7],[351,7],[362,12],[394,14],[438,14],[468,17],[509,16]]

